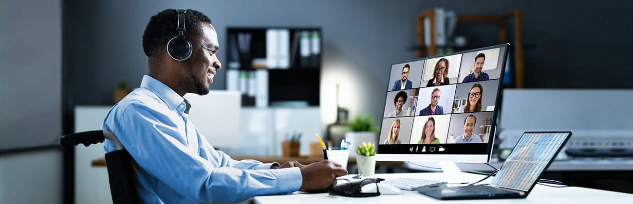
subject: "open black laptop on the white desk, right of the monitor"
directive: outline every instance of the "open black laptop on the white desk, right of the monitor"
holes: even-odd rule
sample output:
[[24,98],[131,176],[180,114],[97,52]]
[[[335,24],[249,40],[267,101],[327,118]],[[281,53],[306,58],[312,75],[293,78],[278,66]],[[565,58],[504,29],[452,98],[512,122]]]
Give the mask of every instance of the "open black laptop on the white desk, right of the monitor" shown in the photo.
[[523,133],[490,184],[416,190],[441,200],[526,198],[570,136],[570,131]]

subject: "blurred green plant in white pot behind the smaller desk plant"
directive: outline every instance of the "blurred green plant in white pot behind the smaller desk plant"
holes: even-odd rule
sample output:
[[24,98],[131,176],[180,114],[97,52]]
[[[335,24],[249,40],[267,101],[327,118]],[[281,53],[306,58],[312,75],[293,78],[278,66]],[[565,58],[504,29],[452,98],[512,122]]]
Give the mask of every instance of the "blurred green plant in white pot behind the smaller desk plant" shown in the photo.
[[[364,142],[378,141],[379,128],[373,125],[373,118],[369,114],[356,116],[348,122],[348,131],[345,140],[349,141],[349,147],[357,147]],[[354,157],[354,151],[349,151],[349,157]]]

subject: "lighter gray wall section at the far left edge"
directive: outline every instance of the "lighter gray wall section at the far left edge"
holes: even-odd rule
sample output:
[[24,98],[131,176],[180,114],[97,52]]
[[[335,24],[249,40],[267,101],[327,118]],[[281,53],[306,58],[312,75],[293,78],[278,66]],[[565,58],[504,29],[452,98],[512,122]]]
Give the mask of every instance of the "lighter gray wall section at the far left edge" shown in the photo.
[[51,145],[61,136],[61,1],[0,4],[0,149]]

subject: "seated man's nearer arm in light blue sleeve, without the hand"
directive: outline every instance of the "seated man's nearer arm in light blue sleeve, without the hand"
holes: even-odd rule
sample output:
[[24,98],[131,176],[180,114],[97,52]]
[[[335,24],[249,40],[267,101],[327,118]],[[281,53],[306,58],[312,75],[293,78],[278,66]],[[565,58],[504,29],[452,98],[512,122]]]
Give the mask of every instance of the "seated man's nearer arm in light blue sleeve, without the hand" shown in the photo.
[[[251,170],[222,167],[183,145],[183,135],[165,114],[130,105],[112,131],[135,162],[181,195],[201,203],[238,202],[258,195],[291,193],[303,184],[299,168]],[[186,141],[185,141],[186,142]],[[210,152],[211,157],[221,157]]]

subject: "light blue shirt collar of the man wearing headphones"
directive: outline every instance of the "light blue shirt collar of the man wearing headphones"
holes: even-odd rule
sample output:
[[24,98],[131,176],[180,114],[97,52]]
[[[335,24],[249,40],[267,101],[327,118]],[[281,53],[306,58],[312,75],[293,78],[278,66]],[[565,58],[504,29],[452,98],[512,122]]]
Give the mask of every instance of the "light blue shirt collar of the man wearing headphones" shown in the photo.
[[141,87],[147,88],[148,90],[156,94],[156,96],[163,100],[163,102],[167,104],[167,107],[169,107],[169,109],[172,111],[176,109],[178,105],[182,104],[182,102],[185,102],[185,104],[187,104],[187,109],[191,107],[191,105],[189,105],[189,102],[187,102],[187,100],[185,100],[183,97],[180,97],[180,95],[174,92],[172,88],[167,87],[165,83],[158,81],[151,76],[143,76]]

